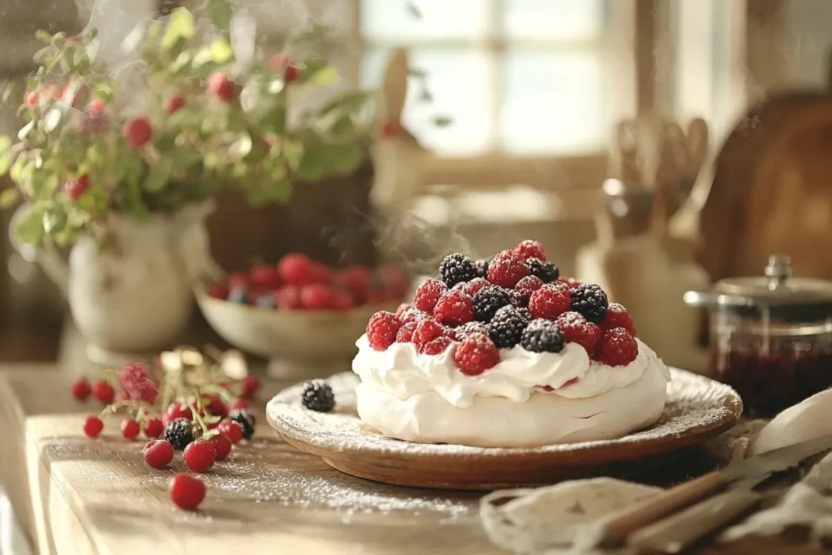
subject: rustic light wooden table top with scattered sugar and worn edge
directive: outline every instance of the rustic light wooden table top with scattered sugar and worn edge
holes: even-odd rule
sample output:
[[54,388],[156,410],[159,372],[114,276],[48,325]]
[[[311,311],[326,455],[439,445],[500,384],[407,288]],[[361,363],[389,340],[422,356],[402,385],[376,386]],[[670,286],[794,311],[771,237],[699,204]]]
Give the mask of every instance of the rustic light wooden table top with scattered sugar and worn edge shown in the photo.
[[[265,383],[268,399],[285,384]],[[346,476],[283,443],[262,414],[255,441],[204,475],[197,513],[167,498],[172,473],[153,470],[143,442],[82,435],[95,404],[75,403],[69,379],[45,365],[0,372],[0,482],[42,555],[65,553],[504,553],[488,542],[477,493],[399,488]],[[382,518],[384,517],[384,518]],[[209,552],[210,550],[210,552]],[[748,542],[699,553],[813,553]]]

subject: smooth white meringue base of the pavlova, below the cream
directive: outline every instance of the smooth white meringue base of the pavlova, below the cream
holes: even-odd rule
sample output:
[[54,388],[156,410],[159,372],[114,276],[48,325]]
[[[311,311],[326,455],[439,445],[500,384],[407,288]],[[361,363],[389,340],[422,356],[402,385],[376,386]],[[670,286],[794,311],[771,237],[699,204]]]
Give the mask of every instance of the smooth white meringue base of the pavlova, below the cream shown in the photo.
[[355,393],[360,419],[389,438],[509,448],[621,438],[659,419],[666,389],[665,374],[651,365],[633,384],[586,399],[540,392],[516,403],[478,396],[460,408],[435,391],[399,399],[362,383]]

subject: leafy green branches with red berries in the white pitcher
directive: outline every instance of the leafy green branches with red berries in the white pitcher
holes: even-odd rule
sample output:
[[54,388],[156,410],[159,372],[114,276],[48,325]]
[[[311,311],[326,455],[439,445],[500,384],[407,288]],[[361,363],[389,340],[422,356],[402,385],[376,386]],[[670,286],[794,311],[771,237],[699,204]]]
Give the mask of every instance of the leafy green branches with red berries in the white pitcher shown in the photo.
[[143,220],[209,199],[222,188],[254,205],[287,201],[294,186],[350,175],[364,162],[369,94],[344,92],[290,123],[303,87],[338,81],[314,52],[314,27],[270,60],[237,60],[227,0],[210,0],[210,32],[184,8],[132,41],[133,61],[106,67],[95,32],[38,32],[45,47],[27,82],[16,140],[0,136],[0,176],[23,243],[103,236],[113,213]]

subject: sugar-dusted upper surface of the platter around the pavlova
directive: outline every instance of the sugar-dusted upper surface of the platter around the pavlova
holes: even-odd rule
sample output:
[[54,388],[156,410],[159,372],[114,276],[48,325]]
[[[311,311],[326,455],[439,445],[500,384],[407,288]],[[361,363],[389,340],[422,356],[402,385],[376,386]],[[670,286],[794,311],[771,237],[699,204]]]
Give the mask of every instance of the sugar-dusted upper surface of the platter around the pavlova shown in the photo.
[[[726,384],[680,369],[671,369],[667,402],[661,418],[650,428],[622,439],[547,445],[539,448],[478,448],[463,445],[414,444],[382,436],[363,424],[355,412],[355,386],[359,378],[351,373],[335,374],[329,379],[337,400],[331,414],[320,414],[300,404],[304,384],[285,389],[266,406],[273,425],[281,434],[298,434],[320,448],[340,451],[395,454],[403,457],[443,456],[505,457],[523,453],[556,453],[577,449],[611,448],[624,444],[658,443],[679,438],[694,429],[716,428],[736,419],[741,410],[740,397]],[[726,402],[730,401],[730,402]]]

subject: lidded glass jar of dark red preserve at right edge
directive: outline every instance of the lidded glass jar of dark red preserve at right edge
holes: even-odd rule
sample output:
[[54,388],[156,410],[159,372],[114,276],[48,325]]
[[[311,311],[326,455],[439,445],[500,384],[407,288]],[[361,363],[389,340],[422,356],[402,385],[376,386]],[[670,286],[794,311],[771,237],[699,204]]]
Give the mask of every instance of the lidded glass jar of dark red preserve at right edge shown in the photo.
[[685,302],[709,309],[711,377],[736,389],[745,416],[772,417],[832,386],[832,282],[793,278],[788,256]]

